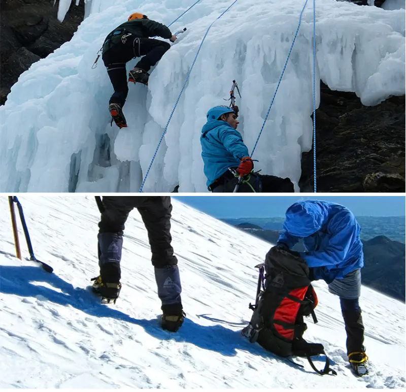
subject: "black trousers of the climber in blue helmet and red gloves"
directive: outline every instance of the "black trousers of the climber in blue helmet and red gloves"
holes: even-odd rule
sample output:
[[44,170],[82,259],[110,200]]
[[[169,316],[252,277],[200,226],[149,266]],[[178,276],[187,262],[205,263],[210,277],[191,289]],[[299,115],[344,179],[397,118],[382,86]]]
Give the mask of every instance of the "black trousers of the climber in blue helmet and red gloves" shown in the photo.
[[[238,178],[230,172],[226,172],[220,177],[220,180],[211,185],[212,192],[232,192],[235,188]],[[290,178],[281,178],[265,174],[251,174],[250,185],[255,192],[294,192],[293,183]],[[253,192],[247,183],[242,183],[239,192]]]

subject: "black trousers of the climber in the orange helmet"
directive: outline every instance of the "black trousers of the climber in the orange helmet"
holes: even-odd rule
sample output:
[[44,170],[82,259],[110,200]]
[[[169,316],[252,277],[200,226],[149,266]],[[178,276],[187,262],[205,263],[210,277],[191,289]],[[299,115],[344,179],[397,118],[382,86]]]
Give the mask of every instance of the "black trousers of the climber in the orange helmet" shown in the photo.
[[119,43],[103,53],[103,62],[107,68],[114,93],[110,98],[110,104],[124,105],[128,94],[127,71],[125,64],[134,57],[141,57],[136,67],[149,71],[171,47],[170,44],[151,38],[129,37],[125,44]]

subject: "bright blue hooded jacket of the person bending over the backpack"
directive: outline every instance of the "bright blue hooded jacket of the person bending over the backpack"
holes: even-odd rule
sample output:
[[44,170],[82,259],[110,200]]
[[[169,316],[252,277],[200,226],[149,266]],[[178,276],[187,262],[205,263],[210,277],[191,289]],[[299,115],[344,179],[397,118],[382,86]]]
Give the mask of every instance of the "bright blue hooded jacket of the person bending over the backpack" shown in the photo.
[[300,253],[314,278],[330,283],[364,266],[361,228],[346,207],[318,200],[294,203],[286,211],[278,243],[292,248],[300,238],[307,252]]

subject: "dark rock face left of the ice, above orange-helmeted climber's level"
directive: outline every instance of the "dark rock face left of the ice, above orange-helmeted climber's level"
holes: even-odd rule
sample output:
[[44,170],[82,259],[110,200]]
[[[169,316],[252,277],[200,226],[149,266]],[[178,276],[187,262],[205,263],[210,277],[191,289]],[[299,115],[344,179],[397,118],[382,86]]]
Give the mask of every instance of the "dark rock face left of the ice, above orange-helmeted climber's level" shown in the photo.
[[71,6],[63,23],[54,0],[0,0],[0,104],[33,62],[69,41],[84,17],[84,2]]

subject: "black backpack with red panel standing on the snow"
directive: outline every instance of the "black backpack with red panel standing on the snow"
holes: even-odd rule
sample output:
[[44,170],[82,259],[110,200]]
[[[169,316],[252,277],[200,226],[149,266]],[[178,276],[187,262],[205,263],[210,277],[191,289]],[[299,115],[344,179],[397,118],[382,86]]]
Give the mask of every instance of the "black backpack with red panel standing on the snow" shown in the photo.
[[[336,375],[330,369],[330,361],[320,343],[308,343],[302,335],[307,329],[304,316],[317,318],[316,292],[309,278],[309,267],[300,254],[274,246],[259,268],[257,296],[251,321],[242,334],[251,343],[258,342],[268,351],[282,356],[307,357],[312,368],[319,374]],[[318,370],[311,357],[325,355],[323,370]],[[297,364],[298,365],[298,364]]]

